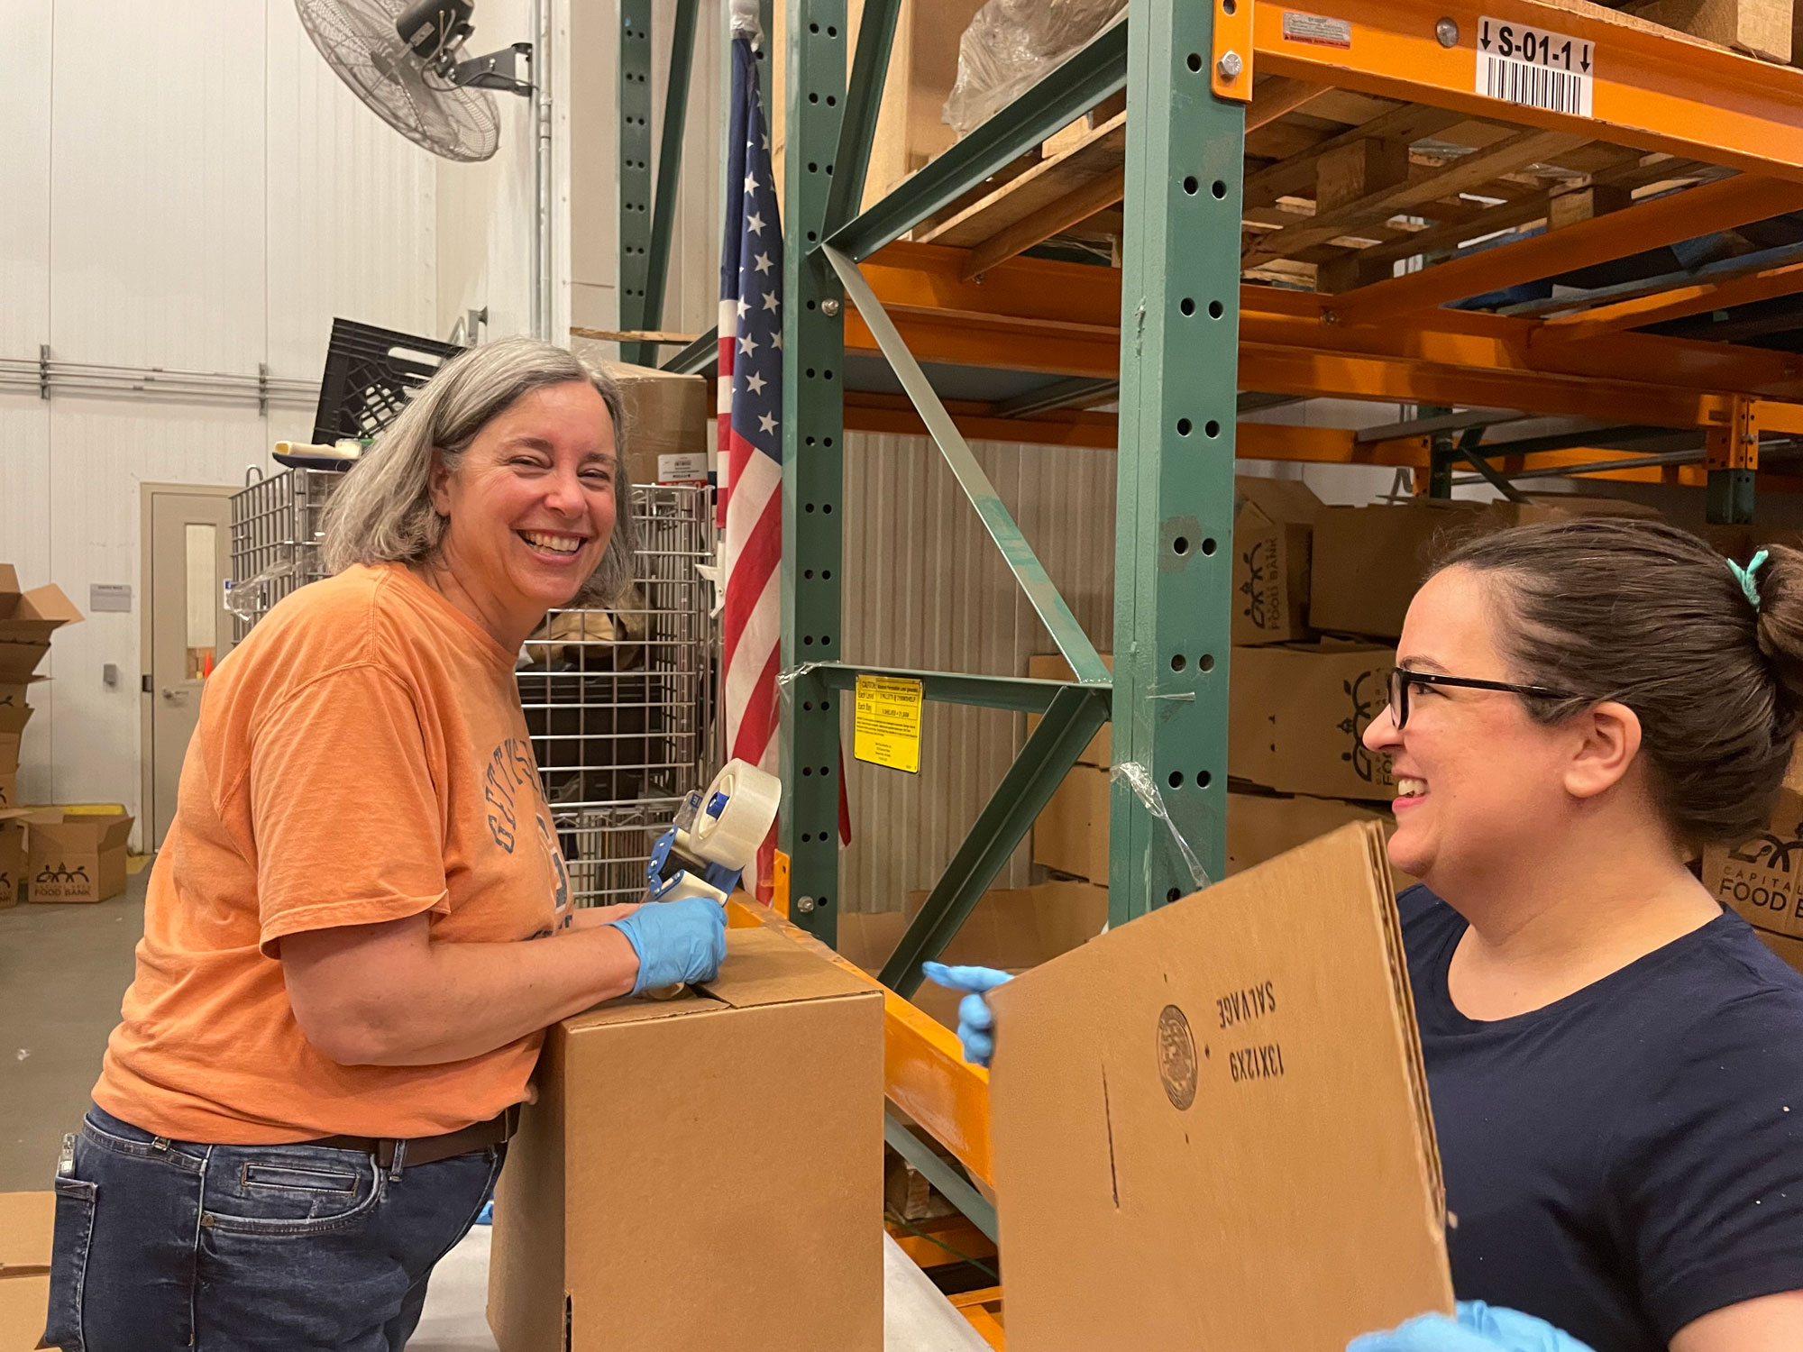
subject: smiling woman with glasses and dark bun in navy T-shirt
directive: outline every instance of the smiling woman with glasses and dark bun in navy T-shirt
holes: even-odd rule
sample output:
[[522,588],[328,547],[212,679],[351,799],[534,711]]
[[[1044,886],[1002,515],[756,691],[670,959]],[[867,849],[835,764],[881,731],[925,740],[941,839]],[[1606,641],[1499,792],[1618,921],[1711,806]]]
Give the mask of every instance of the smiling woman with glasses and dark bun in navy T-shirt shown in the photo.
[[1399,905],[1462,1303],[1356,1352],[1803,1348],[1803,975],[1691,871],[1760,829],[1799,703],[1796,550],[1565,521],[1415,595],[1365,745],[1423,880]]

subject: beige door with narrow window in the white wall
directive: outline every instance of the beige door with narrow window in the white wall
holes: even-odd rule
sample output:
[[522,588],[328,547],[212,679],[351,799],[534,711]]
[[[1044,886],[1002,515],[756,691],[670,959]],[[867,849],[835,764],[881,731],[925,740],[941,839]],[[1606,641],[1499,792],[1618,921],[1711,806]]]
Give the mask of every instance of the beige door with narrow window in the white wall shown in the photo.
[[148,849],[175,820],[182,757],[200,689],[231,647],[231,494],[191,483],[144,485],[144,824]]

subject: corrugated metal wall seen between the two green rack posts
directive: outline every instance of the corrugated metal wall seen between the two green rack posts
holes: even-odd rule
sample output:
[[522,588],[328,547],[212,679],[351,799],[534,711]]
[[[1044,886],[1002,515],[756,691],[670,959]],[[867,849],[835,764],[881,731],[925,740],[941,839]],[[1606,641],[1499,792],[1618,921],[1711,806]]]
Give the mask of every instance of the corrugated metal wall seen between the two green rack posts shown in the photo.
[[[1107,651],[1114,626],[1114,452],[972,445],[1078,624]],[[1001,552],[925,436],[846,438],[844,644],[847,662],[995,676],[1026,672],[1055,645]],[[846,910],[896,910],[952,858],[1026,739],[1026,719],[993,708],[927,705],[921,772],[849,757],[851,847],[840,858]],[[1030,882],[1022,847],[997,880]]]

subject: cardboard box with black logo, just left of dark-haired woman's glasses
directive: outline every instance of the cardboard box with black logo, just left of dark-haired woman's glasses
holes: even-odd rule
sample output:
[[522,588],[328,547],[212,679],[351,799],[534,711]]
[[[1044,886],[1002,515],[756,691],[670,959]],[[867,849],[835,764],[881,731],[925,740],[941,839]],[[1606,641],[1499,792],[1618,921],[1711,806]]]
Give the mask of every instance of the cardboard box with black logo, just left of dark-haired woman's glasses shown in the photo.
[[1235,647],[1228,773],[1278,793],[1390,800],[1390,757],[1363,737],[1390,699],[1394,665],[1370,644]]

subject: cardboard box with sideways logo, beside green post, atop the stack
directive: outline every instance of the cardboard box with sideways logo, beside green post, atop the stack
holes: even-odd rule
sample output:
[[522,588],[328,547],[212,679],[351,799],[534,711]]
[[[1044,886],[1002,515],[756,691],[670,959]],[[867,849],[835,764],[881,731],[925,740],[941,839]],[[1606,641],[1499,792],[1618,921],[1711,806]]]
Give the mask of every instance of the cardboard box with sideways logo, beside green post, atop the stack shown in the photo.
[[1309,555],[1323,507],[1300,480],[1233,478],[1233,642],[1309,636]]

